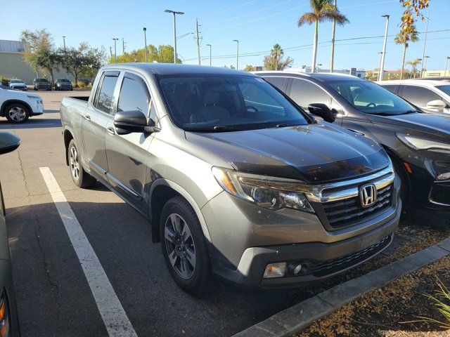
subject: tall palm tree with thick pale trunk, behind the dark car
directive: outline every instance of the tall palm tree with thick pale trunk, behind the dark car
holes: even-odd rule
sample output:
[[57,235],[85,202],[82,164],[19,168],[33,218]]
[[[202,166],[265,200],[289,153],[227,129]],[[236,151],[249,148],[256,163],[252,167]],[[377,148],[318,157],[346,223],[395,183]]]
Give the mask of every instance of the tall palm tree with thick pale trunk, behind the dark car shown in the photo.
[[319,22],[335,20],[338,25],[345,25],[349,20],[338,11],[338,8],[333,6],[331,0],[309,0],[311,4],[312,12],[303,13],[298,18],[297,25],[301,27],[305,23],[312,25],[314,23],[314,43],[312,47],[312,65],[311,72],[316,69],[316,56],[317,56],[317,39],[319,36]]

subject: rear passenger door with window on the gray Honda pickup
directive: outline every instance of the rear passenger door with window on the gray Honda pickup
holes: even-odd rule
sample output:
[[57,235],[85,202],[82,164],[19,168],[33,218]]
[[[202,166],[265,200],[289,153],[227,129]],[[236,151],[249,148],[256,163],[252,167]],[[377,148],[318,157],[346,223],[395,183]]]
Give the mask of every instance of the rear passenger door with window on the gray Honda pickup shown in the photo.
[[113,95],[119,74],[117,71],[106,71],[102,74],[94,100],[88,103],[82,123],[84,159],[90,169],[101,178],[105,178],[108,171],[105,134],[108,122],[112,119]]

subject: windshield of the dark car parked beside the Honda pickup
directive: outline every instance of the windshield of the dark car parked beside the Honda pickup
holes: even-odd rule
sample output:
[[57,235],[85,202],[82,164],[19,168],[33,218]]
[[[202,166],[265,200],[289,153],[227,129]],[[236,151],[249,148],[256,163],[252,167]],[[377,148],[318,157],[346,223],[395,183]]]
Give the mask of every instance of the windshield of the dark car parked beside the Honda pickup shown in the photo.
[[373,82],[329,81],[327,84],[356,110],[366,114],[394,116],[416,112],[405,100]]

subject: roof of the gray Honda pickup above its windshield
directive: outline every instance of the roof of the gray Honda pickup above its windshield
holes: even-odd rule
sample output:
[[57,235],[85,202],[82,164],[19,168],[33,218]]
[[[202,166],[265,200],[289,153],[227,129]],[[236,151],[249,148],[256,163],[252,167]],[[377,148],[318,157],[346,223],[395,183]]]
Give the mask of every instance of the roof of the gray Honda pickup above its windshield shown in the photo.
[[205,65],[181,65],[174,63],[115,63],[112,65],[105,65],[103,70],[114,69],[129,69],[136,72],[151,72],[158,75],[173,75],[173,74],[238,74],[255,76],[249,72],[242,72],[240,70],[233,70],[225,67],[210,67]]

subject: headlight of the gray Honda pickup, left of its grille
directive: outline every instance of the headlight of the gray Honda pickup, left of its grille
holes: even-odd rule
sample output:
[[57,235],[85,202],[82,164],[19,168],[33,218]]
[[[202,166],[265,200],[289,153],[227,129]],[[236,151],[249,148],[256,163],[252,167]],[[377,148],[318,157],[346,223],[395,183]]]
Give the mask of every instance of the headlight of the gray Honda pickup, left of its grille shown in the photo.
[[293,191],[298,185],[304,184],[300,180],[260,176],[219,167],[213,167],[212,173],[226,192],[265,209],[287,207],[314,213],[307,197],[301,192]]

